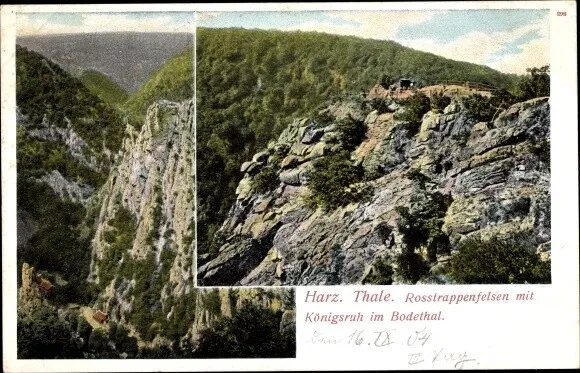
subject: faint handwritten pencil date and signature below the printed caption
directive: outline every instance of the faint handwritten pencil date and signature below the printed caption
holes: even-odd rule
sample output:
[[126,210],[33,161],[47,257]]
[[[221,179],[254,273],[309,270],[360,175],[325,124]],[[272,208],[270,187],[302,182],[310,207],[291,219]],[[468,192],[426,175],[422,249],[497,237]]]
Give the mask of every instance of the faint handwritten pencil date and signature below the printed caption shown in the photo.
[[409,349],[406,352],[406,363],[417,368],[441,366],[444,368],[464,369],[474,368],[478,361],[466,351],[449,350],[445,347],[434,347],[430,344],[431,332],[427,328],[412,332],[397,332],[397,329],[384,329],[368,332],[358,329],[344,337],[326,337],[323,333],[314,331],[308,339],[311,344],[339,345],[346,344],[357,348],[389,348],[402,346]]

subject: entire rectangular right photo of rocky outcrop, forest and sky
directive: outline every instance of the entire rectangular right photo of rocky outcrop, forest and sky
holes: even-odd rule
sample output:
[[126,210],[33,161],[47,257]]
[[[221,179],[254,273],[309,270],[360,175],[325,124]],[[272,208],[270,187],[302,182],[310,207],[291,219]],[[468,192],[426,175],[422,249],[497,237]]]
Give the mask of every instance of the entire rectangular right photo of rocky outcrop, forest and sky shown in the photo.
[[551,282],[548,10],[197,26],[198,286]]

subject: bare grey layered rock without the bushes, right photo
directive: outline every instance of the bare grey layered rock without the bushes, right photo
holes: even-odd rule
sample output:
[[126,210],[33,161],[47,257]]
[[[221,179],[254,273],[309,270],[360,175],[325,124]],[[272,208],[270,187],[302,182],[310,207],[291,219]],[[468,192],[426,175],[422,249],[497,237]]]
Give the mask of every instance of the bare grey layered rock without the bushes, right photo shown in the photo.
[[[393,113],[365,113],[352,102],[326,113],[364,120],[366,138],[351,157],[373,175],[363,184],[371,199],[332,212],[307,207],[308,174],[315,159],[337,150],[336,125],[296,121],[242,165],[237,201],[217,235],[219,251],[200,258],[200,284],[362,283],[373,263],[401,251],[396,207],[413,210],[433,192],[450,196],[443,231],[451,253],[465,237],[525,232],[530,247],[549,259],[548,98],[515,104],[492,122],[477,122],[454,100],[425,114],[416,134]],[[280,154],[278,187],[256,192],[256,175]],[[418,173],[422,179],[411,176]],[[438,255],[432,271],[448,258]]]

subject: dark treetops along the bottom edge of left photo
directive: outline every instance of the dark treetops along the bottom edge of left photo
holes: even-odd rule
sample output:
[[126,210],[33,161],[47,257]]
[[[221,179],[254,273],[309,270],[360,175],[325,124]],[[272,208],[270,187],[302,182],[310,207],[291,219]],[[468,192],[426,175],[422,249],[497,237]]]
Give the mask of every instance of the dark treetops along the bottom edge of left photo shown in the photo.
[[18,314],[17,353],[19,359],[295,357],[295,330],[280,329],[282,314],[245,302],[232,317],[217,316],[195,346],[175,338],[170,344],[139,348],[137,338],[122,324],[94,329],[77,309],[57,312],[45,304],[30,314]]

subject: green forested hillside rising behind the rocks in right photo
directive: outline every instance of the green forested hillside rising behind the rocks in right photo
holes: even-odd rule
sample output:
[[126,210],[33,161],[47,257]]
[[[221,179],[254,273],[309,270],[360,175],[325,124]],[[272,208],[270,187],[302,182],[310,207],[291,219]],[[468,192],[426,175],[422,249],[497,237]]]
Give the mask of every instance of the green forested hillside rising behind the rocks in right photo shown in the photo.
[[510,88],[516,77],[392,41],[243,29],[197,32],[198,250],[230,208],[240,165],[296,117],[368,91],[383,75],[426,85],[469,80]]

